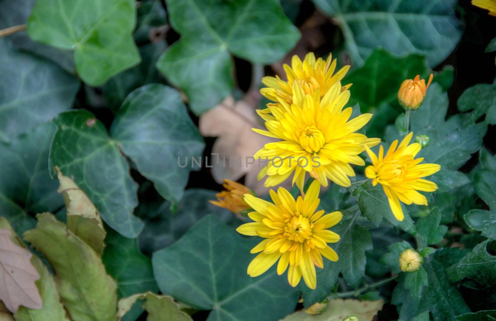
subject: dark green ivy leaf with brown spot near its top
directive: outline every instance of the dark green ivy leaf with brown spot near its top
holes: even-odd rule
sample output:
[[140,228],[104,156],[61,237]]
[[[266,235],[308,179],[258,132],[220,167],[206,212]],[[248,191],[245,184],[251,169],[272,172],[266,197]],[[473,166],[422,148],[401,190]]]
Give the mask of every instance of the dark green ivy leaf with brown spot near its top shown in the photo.
[[143,223],[133,215],[137,205],[137,184],[129,165],[104,125],[87,110],[61,113],[52,140],[49,168],[72,177],[95,204],[107,224],[126,237],[136,237]]

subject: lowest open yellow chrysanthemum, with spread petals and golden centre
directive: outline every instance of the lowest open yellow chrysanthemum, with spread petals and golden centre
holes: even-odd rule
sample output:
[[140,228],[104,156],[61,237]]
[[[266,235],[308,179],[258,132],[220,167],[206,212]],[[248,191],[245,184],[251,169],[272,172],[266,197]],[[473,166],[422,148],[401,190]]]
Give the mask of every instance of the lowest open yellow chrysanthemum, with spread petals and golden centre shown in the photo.
[[261,275],[279,260],[277,274],[288,269],[291,286],[297,286],[303,276],[305,284],[315,289],[315,266],[324,267],[322,256],[330,261],[338,260],[338,255],[327,243],[335,243],[340,237],[328,228],[343,216],[341,212],[326,215],[323,210],[315,212],[320,203],[319,191],[320,184],[313,181],[305,197],[298,196],[296,201],[282,187],[277,193],[270,190],[274,203],[245,195],[245,201],[256,211],[248,213],[254,222],[236,230],[244,235],[265,238],[250,251],[260,254],[248,265],[248,275]]

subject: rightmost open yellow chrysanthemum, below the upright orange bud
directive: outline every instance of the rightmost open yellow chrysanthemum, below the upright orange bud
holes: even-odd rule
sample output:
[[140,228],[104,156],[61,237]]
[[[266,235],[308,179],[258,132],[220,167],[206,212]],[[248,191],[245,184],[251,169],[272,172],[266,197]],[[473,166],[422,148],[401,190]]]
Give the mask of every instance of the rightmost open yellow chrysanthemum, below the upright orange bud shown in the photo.
[[408,205],[412,203],[428,205],[427,198],[418,191],[434,192],[437,190],[437,185],[422,177],[432,175],[441,169],[441,165],[438,164],[420,164],[424,160],[422,157],[415,159],[422,147],[419,143],[408,145],[412,136],[413,132],[408,134],[399,145],[398,140],[395,140],[385,156],[382,145],[378,157],[366,147],[372,165],[365,168],[365,176],[372,178],[373,186],[382,185],[391,211],[400,221],[405,217],[400,201]]

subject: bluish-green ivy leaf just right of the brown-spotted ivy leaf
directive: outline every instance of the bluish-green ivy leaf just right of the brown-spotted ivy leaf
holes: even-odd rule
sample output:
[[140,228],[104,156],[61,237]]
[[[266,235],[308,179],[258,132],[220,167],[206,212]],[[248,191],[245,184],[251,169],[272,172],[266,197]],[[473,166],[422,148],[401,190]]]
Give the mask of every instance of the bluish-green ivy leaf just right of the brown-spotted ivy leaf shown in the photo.
[[176,90],[160,84],[134,90],[110,133],[162,197],[173,204],[181,200],[193,168],[180,167],[178,160],[201,158],[205,144]]

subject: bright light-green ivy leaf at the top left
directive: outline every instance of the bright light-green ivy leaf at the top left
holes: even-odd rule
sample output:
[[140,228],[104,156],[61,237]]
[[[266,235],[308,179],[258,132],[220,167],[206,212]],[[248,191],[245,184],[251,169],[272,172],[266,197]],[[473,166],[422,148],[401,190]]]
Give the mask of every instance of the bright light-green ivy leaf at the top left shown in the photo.
[[37,0],[27,32],[34,41],[74,50],[78,75],[99,86],[139,63],[135,24],[134,0]]

